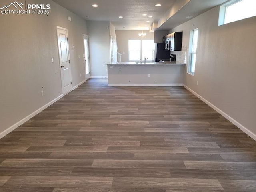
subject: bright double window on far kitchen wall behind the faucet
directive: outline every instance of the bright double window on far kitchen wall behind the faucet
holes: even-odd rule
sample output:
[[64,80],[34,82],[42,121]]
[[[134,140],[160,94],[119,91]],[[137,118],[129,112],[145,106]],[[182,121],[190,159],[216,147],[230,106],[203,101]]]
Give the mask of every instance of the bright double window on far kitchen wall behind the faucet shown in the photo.
[[153,61],[154,48],[154,40],[129,40],[129,61],[144,61],[144,58],[148,58],[147,61]]

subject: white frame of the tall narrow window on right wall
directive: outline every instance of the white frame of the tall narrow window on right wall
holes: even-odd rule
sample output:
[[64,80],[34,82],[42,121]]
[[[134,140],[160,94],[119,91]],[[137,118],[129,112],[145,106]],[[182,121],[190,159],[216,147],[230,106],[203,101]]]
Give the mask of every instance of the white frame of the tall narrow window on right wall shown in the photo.
[[[197,31],[197,37],[196,37],[196,50],[193,50],[194,48],[194,43],[195,43],[195,32]],[[195,75],[195,72],[196,70],[192,71],[192,66],[195,66],[196,67],[196,58],[193,59],[193,57],[195,56],[196,57],[196,52],[197,52],[197,46],[198,46],[198,37],[199,37],[199,29],[196,28],[194,30],[191,30],[190,31],[190,42],[189,42],[189,62],[188,62],[188,74],[194,76]],[[194,62],[194,64],[192,63]]]

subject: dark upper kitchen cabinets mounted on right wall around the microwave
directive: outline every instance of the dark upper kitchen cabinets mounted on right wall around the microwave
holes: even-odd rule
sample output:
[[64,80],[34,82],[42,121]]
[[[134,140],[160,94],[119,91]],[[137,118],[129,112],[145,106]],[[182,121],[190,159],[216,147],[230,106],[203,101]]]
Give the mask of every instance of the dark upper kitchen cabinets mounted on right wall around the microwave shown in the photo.
[[170,51],[181,51],[183,32],[173,32],[165,36],[165,40],[170,43]]

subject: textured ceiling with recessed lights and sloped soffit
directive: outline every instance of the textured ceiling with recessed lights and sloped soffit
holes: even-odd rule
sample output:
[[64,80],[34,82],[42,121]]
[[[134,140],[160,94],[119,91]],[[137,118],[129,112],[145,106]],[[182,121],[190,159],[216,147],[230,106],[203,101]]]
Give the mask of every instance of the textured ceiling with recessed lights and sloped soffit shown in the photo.
[[[169,30],[227,0],[53,0],[90,21],[110,21],[116,30]],[[162,6],[156,7],[156,4]],[[97,4],[98,7],[92,7]],[[142,14],[147,14],[142,16]],[[119,18],[123,16],[123,18]],[[148,16],[152,16],[149,18]]]

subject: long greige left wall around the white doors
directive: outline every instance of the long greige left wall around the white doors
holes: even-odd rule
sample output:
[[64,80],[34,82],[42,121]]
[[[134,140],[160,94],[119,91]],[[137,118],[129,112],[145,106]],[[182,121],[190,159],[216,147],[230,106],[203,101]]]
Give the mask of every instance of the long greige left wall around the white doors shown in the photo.
[[[50,4],[50,14],[0,16],[0,136],[62,95],[56,26],[68,29],[73,86],[85,80],[82,34],[87,34],[86,21],[51,0],[30,3]],[[10,0],[0,4],[8,5]]]

